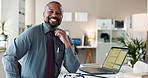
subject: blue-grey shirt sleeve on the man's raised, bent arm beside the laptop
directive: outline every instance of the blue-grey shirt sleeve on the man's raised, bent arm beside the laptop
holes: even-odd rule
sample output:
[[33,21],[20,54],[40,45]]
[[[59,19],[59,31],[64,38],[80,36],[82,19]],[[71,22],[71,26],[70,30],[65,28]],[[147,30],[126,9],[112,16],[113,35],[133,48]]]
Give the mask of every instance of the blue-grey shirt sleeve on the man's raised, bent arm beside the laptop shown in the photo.
[[80,66],[80,61],[71,40],[70,43],[71,47],[65,50],[64,67],[68,72],[75,73]]

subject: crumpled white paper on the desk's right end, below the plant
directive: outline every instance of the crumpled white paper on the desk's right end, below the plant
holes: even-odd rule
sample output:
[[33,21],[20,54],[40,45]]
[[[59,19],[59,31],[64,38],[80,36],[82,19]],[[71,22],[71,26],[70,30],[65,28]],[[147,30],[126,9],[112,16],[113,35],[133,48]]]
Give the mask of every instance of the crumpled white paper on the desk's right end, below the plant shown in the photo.
[[133,72],[134,73],[145,73],[145,72],[148,72],[148,64],[146,64],[146,63],[144,63],[142,61],[137,61],[134,64]]

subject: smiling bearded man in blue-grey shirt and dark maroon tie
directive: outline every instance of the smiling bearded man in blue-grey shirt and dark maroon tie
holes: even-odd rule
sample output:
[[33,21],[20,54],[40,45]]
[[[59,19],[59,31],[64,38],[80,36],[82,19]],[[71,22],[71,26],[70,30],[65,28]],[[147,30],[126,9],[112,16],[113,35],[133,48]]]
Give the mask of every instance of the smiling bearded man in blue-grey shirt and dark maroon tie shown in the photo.
[[[79,68],[80,61],[70,38],[64,30],[57,28],[63,18],[62,5],[56,1],[49,2],[43,16],[45,23],[24,31],[6,50],[3,66],[8,78],[57,78],[62,64],[70,73],[75,73]],[[51,41],[53,46],[49,45]],[[48,53],[52,51],[51,47],[53,52]],[[47,65],[49,62],[52,62],[50,67]]]

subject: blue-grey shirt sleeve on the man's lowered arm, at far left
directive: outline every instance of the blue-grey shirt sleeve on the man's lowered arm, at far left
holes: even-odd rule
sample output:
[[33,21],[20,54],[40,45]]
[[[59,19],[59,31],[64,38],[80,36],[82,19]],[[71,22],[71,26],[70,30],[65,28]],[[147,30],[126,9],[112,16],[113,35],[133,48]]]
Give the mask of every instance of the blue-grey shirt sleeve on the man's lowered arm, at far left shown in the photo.
[[31,42],[24,33],[15,38],[2,57],[6,78],[21,78],[19,60],[27,53]]

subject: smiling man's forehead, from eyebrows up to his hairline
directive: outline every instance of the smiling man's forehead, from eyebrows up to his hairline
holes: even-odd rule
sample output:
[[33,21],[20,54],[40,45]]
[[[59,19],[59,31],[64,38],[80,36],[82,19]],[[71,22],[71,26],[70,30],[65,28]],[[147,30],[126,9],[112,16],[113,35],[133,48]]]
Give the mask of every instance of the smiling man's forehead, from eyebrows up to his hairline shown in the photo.
[[63,11],[63,8],[57,3],[50,3],[46,6],[46,10]]

